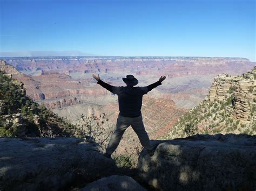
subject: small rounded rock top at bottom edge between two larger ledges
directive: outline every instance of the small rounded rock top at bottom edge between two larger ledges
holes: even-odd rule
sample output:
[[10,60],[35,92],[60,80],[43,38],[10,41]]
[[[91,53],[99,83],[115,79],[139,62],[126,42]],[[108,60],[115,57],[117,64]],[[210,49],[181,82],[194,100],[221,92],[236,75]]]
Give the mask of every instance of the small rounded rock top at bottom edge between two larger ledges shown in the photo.
[[79,191],[120,191],[120,190],[136,190],[143,191],[146,190],[139,185],[130,176],[119,176],[112,175],[106,178],[99,179],[92,183],[86,185],[83,189]]

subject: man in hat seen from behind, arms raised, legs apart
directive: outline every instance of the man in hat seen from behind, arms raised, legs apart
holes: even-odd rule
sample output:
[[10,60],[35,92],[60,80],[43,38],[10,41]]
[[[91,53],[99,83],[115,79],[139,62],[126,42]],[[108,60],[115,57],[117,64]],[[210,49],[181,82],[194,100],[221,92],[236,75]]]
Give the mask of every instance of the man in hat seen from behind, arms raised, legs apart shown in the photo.
[[153,88],[161,85],[166,78],[166,76],[161,76],[159,81],[145,87],[133,87],[136,86],[138,80],[133,75],[127,75],[126,78],[123,78],[123,81],[126,83],[126,87],[116,87],[111,86],[100,80],[99,75],[92,75],[100,84],[100,86],[111,91],[113,94],[118,96],[119,104],[119,115],[117,118],[116,129],[114,130],[109,145],[106,148],[106,157],[111,157],[111,154],[116,150],[117,146],[120,143],[120,140],[124,134],[124,131],[131,125],[132,129],[136,132],[139,137],[140,143],[143,147],[146,148],[147,152],[150,155],[154,154],[153,146],[150,143],[149,136],[145,131],[144,124],[142,121],[142,97],[144,94],[151,91]]

